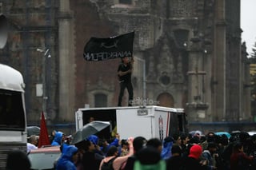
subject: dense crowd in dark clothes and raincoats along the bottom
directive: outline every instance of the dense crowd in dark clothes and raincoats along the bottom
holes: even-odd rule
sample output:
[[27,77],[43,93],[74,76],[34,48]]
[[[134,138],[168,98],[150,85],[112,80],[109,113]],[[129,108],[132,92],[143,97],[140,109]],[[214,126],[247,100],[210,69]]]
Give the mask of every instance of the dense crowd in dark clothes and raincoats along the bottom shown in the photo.
[[[30,142],[34,140],[34,136],[30,136]],[[34,145],[36,147],[36,142]],[[230,138],[214,132],[208,132],[206,136],[180,133],[166,136],[163,141],[143,136],[121,140],[117,133],[112,140],[91,135],[76,144],[66,140],[62,132],[54,132],[51,145],[59,145],[62,151],[56,160],[57,170],[256,169],[256,135],[250,136],[246,132]]]

